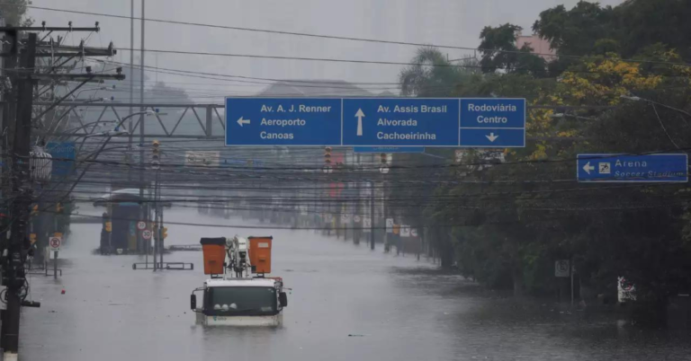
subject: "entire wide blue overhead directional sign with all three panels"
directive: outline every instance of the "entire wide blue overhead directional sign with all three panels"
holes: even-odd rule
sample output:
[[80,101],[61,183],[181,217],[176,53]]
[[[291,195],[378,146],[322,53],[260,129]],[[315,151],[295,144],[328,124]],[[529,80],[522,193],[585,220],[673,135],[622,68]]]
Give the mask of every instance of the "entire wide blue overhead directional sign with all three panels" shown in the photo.
[[525,99],[227,98],[226,145],[522,147]]

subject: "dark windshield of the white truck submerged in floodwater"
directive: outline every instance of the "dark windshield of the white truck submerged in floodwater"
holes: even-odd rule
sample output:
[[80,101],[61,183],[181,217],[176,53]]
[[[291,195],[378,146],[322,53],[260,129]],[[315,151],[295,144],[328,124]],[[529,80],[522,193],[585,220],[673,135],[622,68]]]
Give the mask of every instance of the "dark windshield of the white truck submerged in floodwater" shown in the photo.
[[273,287],[211,287],[209,311],[215,313],[275,313]]

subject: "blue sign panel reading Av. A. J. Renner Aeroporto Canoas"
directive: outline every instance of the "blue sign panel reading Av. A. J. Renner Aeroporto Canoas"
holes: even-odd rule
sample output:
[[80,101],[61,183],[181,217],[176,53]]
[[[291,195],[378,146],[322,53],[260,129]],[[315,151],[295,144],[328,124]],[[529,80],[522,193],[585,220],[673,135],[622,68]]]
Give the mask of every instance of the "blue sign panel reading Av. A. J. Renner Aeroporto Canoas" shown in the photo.
[[226,145],[341,145],[341,100],[227,98]]

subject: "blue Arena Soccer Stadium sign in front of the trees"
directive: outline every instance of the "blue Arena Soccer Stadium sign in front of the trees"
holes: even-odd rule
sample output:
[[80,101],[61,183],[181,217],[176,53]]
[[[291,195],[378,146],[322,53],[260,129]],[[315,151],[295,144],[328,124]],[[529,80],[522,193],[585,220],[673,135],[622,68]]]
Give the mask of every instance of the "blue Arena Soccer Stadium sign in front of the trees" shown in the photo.
[[687,182],[687,154],[579,154],[579,181]]

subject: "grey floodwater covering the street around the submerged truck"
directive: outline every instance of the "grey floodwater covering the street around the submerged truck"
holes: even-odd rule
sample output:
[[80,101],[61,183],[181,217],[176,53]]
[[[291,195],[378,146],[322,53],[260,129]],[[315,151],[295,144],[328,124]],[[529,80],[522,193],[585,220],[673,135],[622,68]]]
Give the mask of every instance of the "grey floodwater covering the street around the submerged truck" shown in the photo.
[[[98,212],[94,212],[98,214]],[[247,225],[167,210],[166,220]],[[166,261],[193,271],[133,270],[139,256],[98,256],[100,225],[72,225],[62,277],[31,276],[22,313],[24,360],[661,360],[689,359],[689,338],[669,331],[583,321],[549,306],[523,310],[415,257],[312,231],[169,225],[169,244],[202,236],[273,235],[274,275],[291,287],[283,327],[194,324],[192,290],[202,253]],[[65,289],[66,294],[60,292]],[[354,335],[354,336],[351,336]]]

